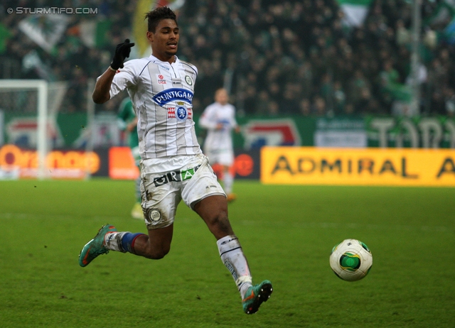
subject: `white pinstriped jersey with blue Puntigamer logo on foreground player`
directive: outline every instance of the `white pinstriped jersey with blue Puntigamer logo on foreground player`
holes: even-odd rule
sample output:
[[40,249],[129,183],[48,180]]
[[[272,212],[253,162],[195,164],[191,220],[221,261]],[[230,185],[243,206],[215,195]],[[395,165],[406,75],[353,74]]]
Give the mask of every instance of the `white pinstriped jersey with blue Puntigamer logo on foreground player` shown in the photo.
[[127,89],[138,117],[142,160],[202,153],[193,121],[193,93],[198,70],[178,60],[170,64],[151,55],[129,60],[117,70],[114,97]]

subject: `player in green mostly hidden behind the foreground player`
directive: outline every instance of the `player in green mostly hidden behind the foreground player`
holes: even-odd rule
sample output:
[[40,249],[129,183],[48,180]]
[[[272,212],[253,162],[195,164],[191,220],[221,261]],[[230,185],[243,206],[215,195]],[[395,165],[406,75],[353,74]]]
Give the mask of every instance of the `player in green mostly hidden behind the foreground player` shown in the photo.
[[[123,99],[117,114],[119,128],[128,133],[128,144],[134,158],[134,163],[139,168],[141,155],[139,155],[139,138],[137,136],[137,116],[134,113],[133,104],[129,97]],[[131,216],[134,219],[144,219],[141,207],[141,177],[136,179],[136,203],[131,210]]]

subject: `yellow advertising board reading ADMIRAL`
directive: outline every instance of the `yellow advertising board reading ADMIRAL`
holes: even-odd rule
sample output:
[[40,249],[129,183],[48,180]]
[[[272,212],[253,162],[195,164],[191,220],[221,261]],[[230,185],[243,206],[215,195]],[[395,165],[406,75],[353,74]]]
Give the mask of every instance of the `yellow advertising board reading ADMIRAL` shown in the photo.
[[455,187],[454,149],[263,147],[261,181]]

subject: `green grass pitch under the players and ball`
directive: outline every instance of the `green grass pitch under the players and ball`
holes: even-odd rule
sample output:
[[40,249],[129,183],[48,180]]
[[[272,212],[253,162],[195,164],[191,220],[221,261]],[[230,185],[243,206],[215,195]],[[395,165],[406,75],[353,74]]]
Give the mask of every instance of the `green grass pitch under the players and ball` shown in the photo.
[[[159,261],[77,256],[103,224],[129,217],[134,182],[0,182],[1,327],[455,327],[455,188],[270,186],[237,181],[232,226],[253,279],[274,293],[255,315],[196,214],[178,208]],[[373,268],[348,283],[328,264],[343,239]]]

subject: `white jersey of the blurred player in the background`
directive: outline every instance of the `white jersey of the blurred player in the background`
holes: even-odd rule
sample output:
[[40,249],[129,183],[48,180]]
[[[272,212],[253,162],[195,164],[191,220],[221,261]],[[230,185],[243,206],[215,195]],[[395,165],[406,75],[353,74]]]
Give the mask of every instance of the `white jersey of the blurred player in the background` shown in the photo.
[[[218,124],[223,124],[223,129],[217,130]],[[237,128],[234,106],[219,102],[210,104],[200,116],[199,125],[208,129],[204,142],[205,152],[232,152],[232,129]]]

